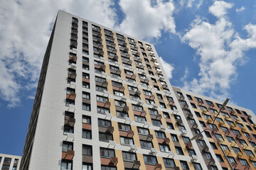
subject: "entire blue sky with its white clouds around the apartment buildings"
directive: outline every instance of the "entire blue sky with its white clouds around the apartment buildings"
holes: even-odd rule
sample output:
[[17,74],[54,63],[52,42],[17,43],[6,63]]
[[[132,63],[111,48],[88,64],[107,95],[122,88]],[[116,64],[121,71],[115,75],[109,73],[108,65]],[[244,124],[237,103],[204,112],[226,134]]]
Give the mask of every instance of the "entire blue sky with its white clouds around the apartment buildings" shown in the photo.
[[223,101],[229,97],[255,112],[255,7],[253,0],[3,1],[0,153],[22,154],[58,9],[153,43],[172,85]]

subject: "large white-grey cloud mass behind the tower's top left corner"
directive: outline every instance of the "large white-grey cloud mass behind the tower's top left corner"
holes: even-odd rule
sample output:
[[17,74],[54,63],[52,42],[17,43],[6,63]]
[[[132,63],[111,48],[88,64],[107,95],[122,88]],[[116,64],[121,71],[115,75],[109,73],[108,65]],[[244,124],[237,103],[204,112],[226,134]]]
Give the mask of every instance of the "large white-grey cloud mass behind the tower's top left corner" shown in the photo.
[[0,98],[17,106],[21,89],[35,88],[58,9],[113,28],[112,5],[110,0],[1,1]]

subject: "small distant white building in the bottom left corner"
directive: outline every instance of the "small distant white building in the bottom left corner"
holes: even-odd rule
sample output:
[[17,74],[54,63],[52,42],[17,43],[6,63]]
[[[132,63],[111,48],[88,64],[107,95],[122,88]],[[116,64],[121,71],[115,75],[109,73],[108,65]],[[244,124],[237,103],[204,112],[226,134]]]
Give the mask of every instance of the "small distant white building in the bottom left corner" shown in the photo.
[[16,170],[20,168],[21,157],[11,154],[0,154],[1,170]]

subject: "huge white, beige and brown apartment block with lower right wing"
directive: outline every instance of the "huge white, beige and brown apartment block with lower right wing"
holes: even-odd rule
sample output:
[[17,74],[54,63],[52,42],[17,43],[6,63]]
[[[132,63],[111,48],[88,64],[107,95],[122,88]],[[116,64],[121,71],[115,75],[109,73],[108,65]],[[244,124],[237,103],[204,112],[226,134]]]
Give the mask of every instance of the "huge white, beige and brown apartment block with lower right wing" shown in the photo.
[[228,168],[212,131],[191,140],[206,128],[234,169],[255,169],[255,115],[228,104],[212,125],[220,104],[171,86],[149,42],[59,11],[21,169]]

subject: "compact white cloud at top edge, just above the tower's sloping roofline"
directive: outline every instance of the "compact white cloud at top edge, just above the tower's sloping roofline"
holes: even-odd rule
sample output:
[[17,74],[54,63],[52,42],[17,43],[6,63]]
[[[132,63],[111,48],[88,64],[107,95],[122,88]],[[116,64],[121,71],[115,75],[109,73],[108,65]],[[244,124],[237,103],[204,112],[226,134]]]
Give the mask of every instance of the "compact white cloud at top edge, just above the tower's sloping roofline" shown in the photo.
[[161,30],[175,33],[173,1],[120,0],[119,6],[125,18],[117,29],[123,33],[146,40],[160,38]]

